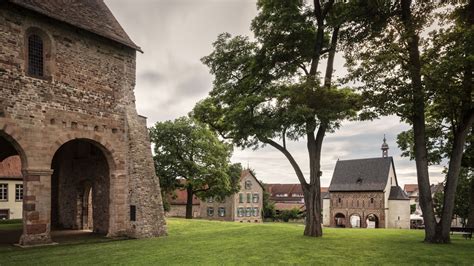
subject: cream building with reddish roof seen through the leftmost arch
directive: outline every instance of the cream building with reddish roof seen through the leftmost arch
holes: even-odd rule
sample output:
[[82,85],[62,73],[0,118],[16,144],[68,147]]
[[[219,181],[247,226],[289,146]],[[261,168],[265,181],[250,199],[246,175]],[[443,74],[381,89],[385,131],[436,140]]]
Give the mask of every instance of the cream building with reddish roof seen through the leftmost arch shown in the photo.
[[0,162],[0,220],[23,218],[23,177],[19,156]]

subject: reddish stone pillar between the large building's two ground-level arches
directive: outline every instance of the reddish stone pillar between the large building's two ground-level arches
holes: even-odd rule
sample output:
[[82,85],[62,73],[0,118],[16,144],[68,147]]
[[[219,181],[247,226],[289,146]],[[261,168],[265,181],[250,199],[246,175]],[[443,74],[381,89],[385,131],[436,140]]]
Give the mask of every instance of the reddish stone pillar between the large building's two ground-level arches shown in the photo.
[[51,169],[23,170],[23,235],[20,245],[47,245],[51,240]]

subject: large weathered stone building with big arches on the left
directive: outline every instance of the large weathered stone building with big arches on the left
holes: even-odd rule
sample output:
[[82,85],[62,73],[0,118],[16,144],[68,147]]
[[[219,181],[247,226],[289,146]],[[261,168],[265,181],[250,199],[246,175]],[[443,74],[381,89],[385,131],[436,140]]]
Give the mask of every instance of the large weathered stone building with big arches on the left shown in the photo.
[[23,174],[22,245],[55,228],[166,233],[134,44],[102,0],[0,1],[0,161]]

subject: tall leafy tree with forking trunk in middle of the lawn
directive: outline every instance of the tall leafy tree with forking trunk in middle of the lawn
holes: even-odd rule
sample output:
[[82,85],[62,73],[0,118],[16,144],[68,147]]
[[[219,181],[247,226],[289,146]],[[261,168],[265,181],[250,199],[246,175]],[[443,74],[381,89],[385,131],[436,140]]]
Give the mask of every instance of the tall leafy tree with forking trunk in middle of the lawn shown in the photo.
[[[323,139],[360,107],[358,95],[333,82],[340,29],[350,12],[342,3],[317,0],[259,0],[257,7],[251,27],[255,40],[221,34],[202,59],[215,79],[194,116],[237,146],[280,151],[303,188],[304,235],[322,236]],[[306,141],[308,176],[288,151],[287,139]]]

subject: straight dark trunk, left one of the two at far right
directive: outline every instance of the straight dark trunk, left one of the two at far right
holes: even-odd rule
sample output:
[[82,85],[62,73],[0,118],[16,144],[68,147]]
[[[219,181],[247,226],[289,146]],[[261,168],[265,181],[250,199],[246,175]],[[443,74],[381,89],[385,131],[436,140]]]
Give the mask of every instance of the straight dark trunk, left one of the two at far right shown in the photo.
[[431,197],[430,177],[428,172],[428,152],[426,149],[425,130],[425,93],[421,82],[421,61],[419,51],[419,36],[415,31],[411,14],[411,0],[401,1],[401,19],[406,31],[409,64],[407,70],[412,81],[413,95],[413,132],[415,142],[415,160],[420,194],[420,207],[425,222],[425,242],[436,242],[437,228],[433,199]]

